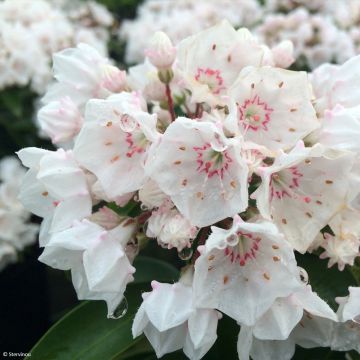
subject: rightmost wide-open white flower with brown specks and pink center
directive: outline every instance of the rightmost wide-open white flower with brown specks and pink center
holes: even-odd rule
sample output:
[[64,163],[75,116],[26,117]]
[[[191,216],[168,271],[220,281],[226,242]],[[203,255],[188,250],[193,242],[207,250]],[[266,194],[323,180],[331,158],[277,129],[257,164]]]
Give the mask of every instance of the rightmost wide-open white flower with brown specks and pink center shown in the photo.
[[[261,215],[272,219],[298,251],[305,252],[319,231],[346,203],[354,157],[299,142],[273,165],[258,171],[254,193]],[[316,181],[314,181],[316,179]]]

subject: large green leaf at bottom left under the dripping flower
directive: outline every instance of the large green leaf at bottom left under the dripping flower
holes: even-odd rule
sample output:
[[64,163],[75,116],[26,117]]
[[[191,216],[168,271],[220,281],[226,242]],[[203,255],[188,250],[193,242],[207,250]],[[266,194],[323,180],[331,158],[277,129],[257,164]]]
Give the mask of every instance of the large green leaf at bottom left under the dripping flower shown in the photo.
[[131,346],[131,325],[140,303],[141,288],[128,286],[129,309],[118,320],[107,319],[104,301],[85,301],[75,307],[39,340],[31,350],[32,360],[107,360],[121,358]]

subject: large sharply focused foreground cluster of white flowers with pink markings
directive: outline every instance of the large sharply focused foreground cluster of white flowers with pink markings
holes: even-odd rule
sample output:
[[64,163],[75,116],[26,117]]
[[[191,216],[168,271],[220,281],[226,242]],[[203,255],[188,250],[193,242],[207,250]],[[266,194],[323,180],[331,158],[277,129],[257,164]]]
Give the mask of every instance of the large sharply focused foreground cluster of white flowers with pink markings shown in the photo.
[[39,117],[67,147],[18,153],[40,260],[115,317],[142,239],[176,249],[179,281],[153,281],[133,323],[158,357],[200,359],[222,314],[241,359],[359,350],[359,288],[335,313],[295,251],[339,270],[359,255],[360,57],[309,77],[226,21],[177,47],[157,33],[145,53],[128,73],[85,45],[55,56]]

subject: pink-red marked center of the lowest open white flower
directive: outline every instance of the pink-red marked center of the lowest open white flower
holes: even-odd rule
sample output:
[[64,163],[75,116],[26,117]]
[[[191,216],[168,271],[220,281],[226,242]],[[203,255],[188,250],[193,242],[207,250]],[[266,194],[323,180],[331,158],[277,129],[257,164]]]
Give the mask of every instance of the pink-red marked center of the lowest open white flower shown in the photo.
[[233,236],[237,236],[237,239],[235,239],[237,240],[237,245],[225,248],[225,255],[232,263],[238,262],[240,266],[244,266],[247,261],[256,258],[261,238],[241,231],[238,231]]

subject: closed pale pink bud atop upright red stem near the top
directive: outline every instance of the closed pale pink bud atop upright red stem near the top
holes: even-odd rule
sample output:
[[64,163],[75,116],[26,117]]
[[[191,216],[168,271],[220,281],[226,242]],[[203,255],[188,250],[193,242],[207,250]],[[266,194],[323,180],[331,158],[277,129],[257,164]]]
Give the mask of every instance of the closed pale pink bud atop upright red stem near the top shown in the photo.
[[157,31],[150,40],[145,55],[158,69],[168,69],[175,61],[176,48],[165,33]]

